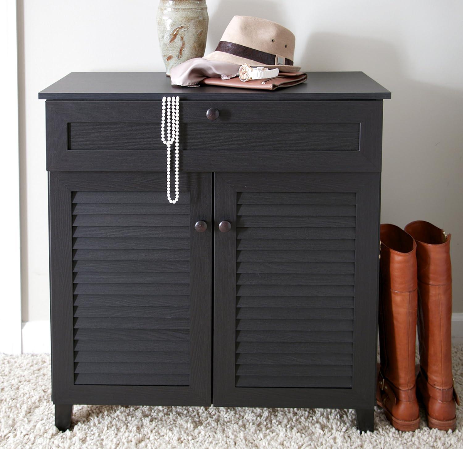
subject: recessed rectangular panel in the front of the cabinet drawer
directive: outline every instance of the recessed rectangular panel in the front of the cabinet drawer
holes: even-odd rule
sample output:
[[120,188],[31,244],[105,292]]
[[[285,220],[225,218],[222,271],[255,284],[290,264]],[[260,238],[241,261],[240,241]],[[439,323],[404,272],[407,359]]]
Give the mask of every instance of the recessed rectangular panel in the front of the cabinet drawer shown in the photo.
[[[183,149],[358,151],[360,146],[359,123],[208,122],[181,124],[181,138],[187,138]],[[68,150],[163,151],[160,132],[159,123],[69,123]]]

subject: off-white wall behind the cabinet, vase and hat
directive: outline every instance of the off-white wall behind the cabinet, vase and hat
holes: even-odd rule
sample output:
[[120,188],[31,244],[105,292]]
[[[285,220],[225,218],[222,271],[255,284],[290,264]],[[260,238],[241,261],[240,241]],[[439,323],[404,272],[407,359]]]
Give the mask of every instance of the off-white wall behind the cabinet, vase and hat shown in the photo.
[[[303,70],[363,70],[384,103],[382,221],[453,234],[454,311],[463,311],[463,2],[207,0],[212,51],[234,14],[280,22]],[[70,71],[163,70],[154,0],[19,0],[23,321],[48,320],[44,101]],[[308,79],[310,82],[310,76]]]

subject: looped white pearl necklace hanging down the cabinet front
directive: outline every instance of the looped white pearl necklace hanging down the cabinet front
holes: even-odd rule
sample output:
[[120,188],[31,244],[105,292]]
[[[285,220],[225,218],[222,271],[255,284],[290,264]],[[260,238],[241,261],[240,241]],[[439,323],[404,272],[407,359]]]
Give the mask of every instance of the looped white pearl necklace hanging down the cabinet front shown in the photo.
[[[171,204],[175,204],[179,198],[179,180],[178,180],[178,166],[179,166],[179,150],[178,150],[178,136],[179,136],[179,97],[163,97],[163,113],[161,117],[161,140],[167,146],[167,199]],[[166,110],[167,101],[167,110]],[[167,135],[164,133],[164,125],[167,117]],[[170,147],[175,143],[175,199],[170,196]]]

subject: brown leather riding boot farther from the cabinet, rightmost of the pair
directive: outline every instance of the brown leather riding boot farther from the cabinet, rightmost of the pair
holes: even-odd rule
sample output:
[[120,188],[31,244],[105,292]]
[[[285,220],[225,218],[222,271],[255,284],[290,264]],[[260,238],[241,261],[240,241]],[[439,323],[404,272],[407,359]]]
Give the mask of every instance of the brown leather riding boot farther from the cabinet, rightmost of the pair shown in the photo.
[[452,269],[450,234],[427,221],[413,221],[405,230],[416,241],[418,262],[418,396],[428,426],[455,430],[457,425],[451,354]]

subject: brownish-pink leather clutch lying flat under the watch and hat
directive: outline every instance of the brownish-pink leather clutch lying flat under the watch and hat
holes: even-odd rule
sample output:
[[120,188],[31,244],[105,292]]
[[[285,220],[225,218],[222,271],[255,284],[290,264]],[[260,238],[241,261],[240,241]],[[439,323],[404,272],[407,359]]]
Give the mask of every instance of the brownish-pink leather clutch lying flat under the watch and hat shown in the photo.
[[225,86],[225,87],[239,87],[244,89],[266,89],[275,90],[281,87],[295,86],[307,80],[307,73],[305,72],[280,72],[275,78],[268,78],[263,80],[250,80],[243,82],[238,76],[223,80],[222,78],[205,78],[200,84],[207,84],[212,86]]

